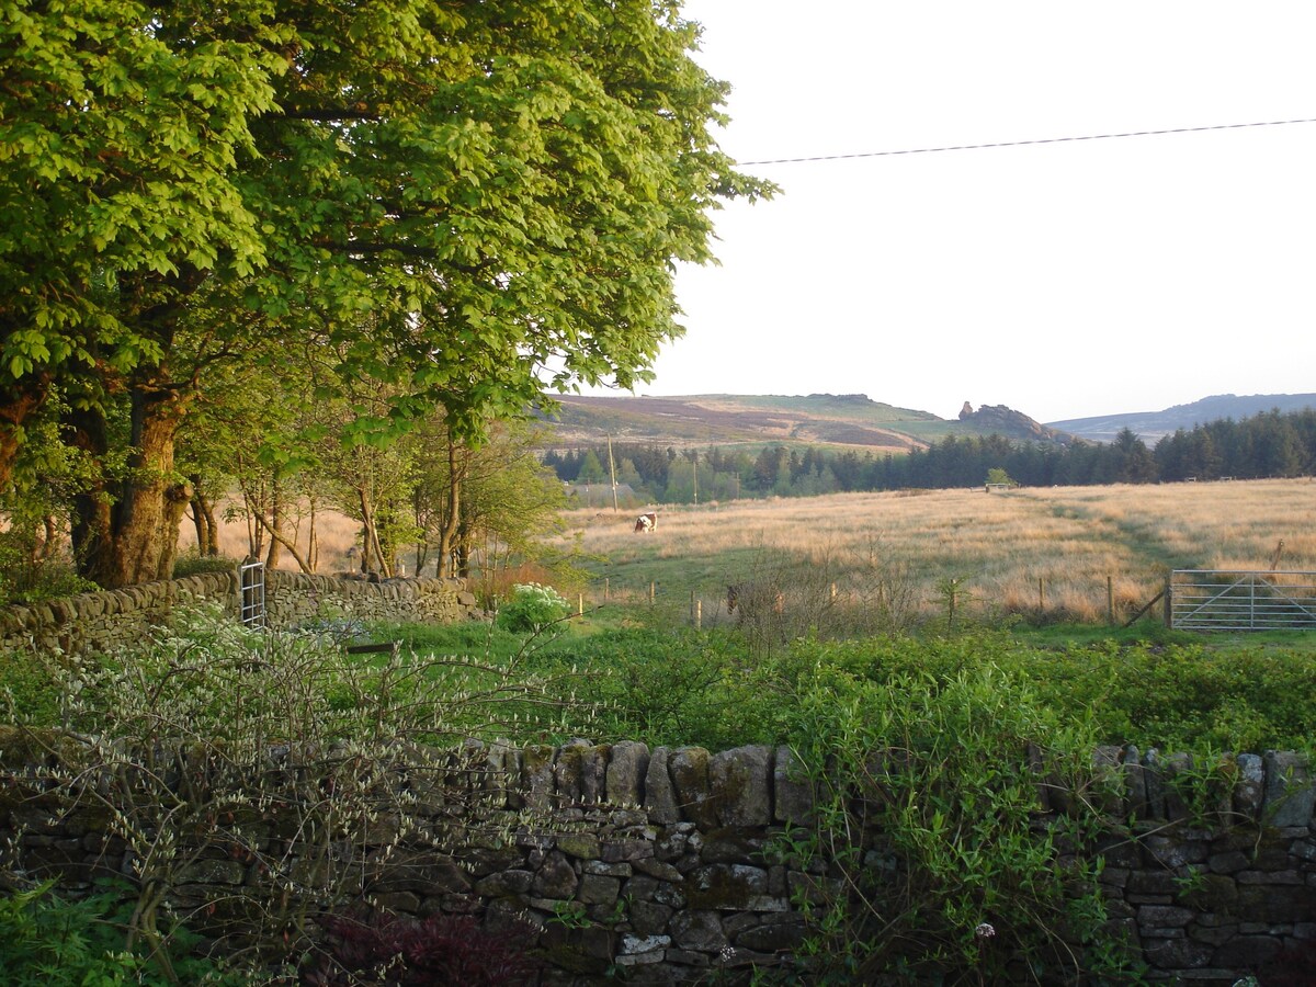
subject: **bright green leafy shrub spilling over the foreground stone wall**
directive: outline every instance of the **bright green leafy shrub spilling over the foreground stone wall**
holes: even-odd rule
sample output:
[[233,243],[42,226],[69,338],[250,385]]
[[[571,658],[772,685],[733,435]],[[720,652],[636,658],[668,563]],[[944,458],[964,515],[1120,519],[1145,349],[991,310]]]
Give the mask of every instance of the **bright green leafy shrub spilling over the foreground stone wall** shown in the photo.
[[[821,797],[815,829],[778,850],[840,869],[799,901],[816,973],[855,983],[1126,973],[1104,929],[1098,863],[1073,849],[1100,825],[1086,797],[1101,780],[1088,769],[1090,726],[1066,724],[988,662],[880,683],[817,666],[788,709]],[[1076,795],[1045,830],[1032,825],[1041,776]]]

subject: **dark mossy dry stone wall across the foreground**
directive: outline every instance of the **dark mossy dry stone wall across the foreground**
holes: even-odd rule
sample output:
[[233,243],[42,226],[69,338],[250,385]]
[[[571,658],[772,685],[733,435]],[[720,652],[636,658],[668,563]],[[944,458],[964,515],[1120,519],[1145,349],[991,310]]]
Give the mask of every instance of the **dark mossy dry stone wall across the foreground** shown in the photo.
[[[471,741],[465,755],[474,766],[465,783],[482,792],[482,808],[468,809],[470,838],[442,853],[395,853],[366,886],[379,905],[471,915],[491,928],[529,923],[547,984],[612,975],[742,983],[754,970],[795,963],[808,932],[799,903],[824,894],[834,875],[772,850],[787,824],[809,822],[813,805],[788,749]],[[1098,761],[1123,783],[1105,807],[1120,822],[1096,848],[1101,882],[1115,926],[1141,950],[1150,979],[1233,984],[1284,957],[1312,955],[1316,790],[1303,759],[1240,755],[1237,782],[1208,807],[1227,826],[1195,821],[1174,795],[1188,759],[1112,747]],[[1038,800],[1063,811],[1063,792],[1042,786]],[[3,794],[0,808],[0,845],[18,840],[34,875],[63,870],[86,880],[128,863],[122,845],[76,816]],[[253,880],[222,853],[209,863],[179,904],[232,896]]]

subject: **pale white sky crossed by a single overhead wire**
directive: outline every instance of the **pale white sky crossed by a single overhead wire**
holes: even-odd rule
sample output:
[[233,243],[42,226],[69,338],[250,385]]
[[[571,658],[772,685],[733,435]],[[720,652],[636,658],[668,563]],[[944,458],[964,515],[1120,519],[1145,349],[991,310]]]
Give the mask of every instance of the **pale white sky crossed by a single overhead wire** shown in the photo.
[[1040,421],[1316,392],[1316,4],[687,0],[782,193],[679,268],[647,395]]

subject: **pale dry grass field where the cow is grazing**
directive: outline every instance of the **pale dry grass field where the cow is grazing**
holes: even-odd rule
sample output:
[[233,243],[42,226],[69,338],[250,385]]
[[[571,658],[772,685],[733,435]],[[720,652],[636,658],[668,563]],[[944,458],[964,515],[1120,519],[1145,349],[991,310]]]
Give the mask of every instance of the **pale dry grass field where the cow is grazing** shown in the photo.
[[[959,580],[979,607],[1104,620],[1150,600],[1170,569],[1316,570],[1316,483],[842,494],[663,508],[658,530],[632,515],[578,511],[569,538],[591,563],[594,596],[692,592],[713,611],[728,583],[836,584],[841,596],[903,592],[923,611]],[[941,591],[938,592],[938,586]]]

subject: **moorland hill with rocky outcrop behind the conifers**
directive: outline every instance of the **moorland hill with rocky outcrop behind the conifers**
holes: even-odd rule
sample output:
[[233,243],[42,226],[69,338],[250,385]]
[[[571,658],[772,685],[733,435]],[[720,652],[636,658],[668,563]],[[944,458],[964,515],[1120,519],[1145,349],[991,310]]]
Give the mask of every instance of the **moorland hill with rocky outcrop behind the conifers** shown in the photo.
[[684,397],[559,397],[547,418],[554,446],[613,441],[674,445],[813,445],[871,453],[905,453],[950,434],[1003,434],[1032,441],[1069,442],[1004,405],[970,405],[955,421],[874,401],[867,395],[692,395]]

